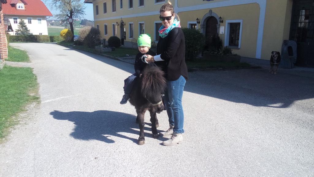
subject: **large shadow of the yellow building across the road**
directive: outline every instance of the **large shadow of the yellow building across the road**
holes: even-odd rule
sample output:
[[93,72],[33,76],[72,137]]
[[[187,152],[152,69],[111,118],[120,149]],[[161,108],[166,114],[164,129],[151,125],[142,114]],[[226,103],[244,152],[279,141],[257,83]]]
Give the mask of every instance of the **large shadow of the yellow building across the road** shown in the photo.
[[[128,63],[75,51],[130,74],[134,72]],[[288,108],[297,100],[314,98],[314,78],[280,73],[280,69],[277,75],[266,69],[208,70],[189,73],[184,91],[253,106]],[[314,107],[314,103],[308,106]]]

